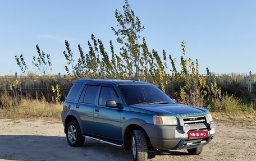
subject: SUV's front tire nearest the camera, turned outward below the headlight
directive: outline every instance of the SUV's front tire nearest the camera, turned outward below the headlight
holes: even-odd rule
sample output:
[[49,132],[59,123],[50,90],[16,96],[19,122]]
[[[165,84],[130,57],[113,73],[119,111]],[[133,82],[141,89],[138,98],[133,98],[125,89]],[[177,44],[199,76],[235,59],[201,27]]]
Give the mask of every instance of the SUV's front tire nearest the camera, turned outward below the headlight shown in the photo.
[[132,131],[131,151],[134,161],[144,161],[148,159],[148,146],[143,130]]

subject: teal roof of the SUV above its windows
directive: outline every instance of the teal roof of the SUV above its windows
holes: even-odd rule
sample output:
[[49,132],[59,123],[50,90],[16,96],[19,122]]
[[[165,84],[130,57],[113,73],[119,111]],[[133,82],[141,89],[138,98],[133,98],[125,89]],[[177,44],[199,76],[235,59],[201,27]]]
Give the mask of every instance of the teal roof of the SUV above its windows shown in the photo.
[[90,82],[90,83],[99,83],[99,84],[112,84],[112,85],[121,85],[121,84],[149,84],[144,81],[134,81],[134,80],[117,80],[117,79],[77,79],[76,81]]

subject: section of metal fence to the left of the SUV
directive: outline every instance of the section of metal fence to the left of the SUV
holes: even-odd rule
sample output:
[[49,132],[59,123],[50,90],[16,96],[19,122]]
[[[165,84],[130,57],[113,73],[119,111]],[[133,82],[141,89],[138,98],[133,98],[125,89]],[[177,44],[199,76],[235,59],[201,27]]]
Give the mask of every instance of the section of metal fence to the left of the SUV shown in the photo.
[[[19,80],[17,83],[16,80]],[[54,95],[51,86],[57,84],[61,86],[61,94],[65,98],[72,84],[75,82],[74,77],[55,76],[0,76],[0,92],[7,91],[11,95],[15,95],[19,91],[22,95],[31,97],[44,96],[49,100]],[[14,86],[12,86],[14,85]]]

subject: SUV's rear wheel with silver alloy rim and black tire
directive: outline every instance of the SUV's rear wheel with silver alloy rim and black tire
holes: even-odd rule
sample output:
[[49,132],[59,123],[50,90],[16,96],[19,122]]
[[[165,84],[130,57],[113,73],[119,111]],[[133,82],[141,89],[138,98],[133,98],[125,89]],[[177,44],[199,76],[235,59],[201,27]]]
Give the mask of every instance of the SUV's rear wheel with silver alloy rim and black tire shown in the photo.
[[85,137],[82,136],[79,123],[76,120],[68,122],[66,137],[70,146],[78,147],[84,144]]

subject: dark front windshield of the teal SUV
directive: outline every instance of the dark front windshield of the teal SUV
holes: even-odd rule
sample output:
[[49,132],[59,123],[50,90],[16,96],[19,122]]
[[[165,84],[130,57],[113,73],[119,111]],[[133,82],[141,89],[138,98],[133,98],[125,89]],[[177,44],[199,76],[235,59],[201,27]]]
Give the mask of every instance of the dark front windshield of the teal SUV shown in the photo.
[[119,85],[126,105],[174,103],[173,100],[154,85]]

